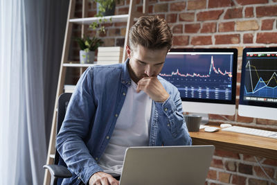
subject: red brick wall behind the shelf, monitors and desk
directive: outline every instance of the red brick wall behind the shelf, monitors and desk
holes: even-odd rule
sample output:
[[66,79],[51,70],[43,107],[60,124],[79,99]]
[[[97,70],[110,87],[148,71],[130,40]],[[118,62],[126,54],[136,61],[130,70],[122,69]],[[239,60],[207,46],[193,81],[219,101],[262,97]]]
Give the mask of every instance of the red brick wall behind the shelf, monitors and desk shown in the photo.
[[[136,0],[137,10],[142,10],[142,0]],[[76,17],[81,15],[81,1],[77,1]],[[116,15],[127,14],[129,0],[116,6]],[[238,49],[238,85],[242,49],[244,47],[277,46],[277,0],[150,0],[148,10],[152,15],[165,18],[174,33],[174,48],[236,48]],[[89,16],[96,14],[96,4],[89,5]],[[125,23],[105,24],[106,33],[100,35],[104,46],[123,46]],[[95,31],[89,31],[89,35]],[[73,35],[80,35],[75,26]],[[78,46],[72,44],[71,58],[78,60]],[[237,100],[238,105],[238,100]],[[277,130],[277,121],[260,118],[226,116],[232,124],[267,127]],[[222,116],[211,114],[210,121],[230,123]],[[277,142],[276,142],[277,143]],[[269,177],[277,180],[277,161],[257,157]],[[216,150],[206,184],[272,184],[262,172],[253,156]]]

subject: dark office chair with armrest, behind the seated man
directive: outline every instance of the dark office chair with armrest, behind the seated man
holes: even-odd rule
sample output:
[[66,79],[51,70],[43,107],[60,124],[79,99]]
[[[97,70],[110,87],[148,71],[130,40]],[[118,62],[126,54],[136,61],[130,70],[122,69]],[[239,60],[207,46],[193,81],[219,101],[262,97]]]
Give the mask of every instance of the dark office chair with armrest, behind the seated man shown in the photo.
[[[66,107],[69,104],[71,93],[61,94],[57,104],[57,133],[60,132],[60,127],[64,121]],[[60,157],[57,149],[55,150],[54,164],[44,165],[51,173],[51,185],[61,184],[63,178],[69,178],[72,176],[71,172],[66,168],[66,164],[62,157]],[[61,179],[62,178],[62,179]]]

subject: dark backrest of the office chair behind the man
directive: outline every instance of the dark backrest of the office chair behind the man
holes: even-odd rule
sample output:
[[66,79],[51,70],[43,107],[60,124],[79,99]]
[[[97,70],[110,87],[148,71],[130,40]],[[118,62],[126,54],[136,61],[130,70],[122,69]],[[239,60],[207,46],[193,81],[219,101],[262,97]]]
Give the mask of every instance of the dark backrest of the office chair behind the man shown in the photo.
[[[71,98],[72,93],[64,93],[61,94],[59,99],[58,99],[58,103],[57,103],[57,127],[56,127],[56,135],[60,132],[60,127],[62,126],[62,122],[64,121],[64,116],[66,113],[66,108],[67,105],[69,104],[69,100]],[[60,157],[59,152],[57,152],[57,149],[55,150],[55,159],[54,159],[54,164],[57,165],[62,165],[62,166],[66,166],[66,164],[64,163],[64,160],[62,159],[62,157]],[[60,184],[62,181],[62,179],[58,179],[57,184]]]

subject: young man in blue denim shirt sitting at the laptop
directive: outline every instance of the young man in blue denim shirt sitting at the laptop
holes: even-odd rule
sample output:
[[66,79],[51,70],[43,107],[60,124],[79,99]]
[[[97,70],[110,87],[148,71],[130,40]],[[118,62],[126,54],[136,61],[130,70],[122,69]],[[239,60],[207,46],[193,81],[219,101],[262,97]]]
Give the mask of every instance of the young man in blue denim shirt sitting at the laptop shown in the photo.
[[118,184],[126,148],[191,144],[179,91],[158,76],[171,45],[164,19],[141,17],[124,64],[84,72],[57,135],[73,173],[63,184]]

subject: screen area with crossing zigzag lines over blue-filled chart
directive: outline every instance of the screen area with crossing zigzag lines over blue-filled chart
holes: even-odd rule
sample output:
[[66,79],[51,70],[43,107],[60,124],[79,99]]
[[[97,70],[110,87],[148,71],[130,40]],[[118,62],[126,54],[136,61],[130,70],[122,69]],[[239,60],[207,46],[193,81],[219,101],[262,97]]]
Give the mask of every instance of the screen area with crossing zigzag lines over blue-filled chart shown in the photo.
[[244,65],[244,100],[277,103],[277,53],[249,52]]

